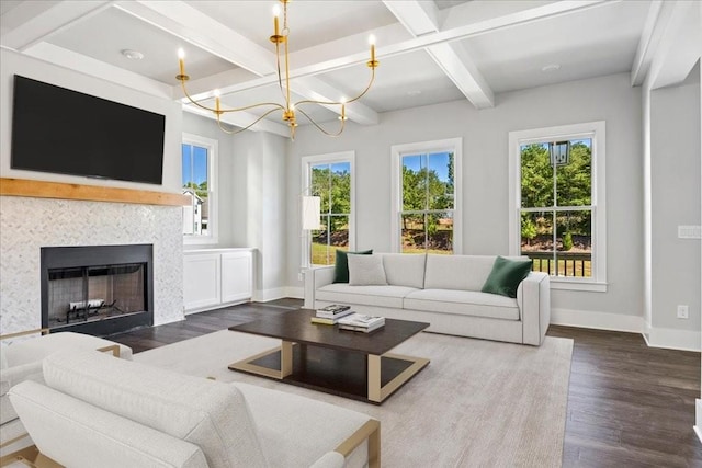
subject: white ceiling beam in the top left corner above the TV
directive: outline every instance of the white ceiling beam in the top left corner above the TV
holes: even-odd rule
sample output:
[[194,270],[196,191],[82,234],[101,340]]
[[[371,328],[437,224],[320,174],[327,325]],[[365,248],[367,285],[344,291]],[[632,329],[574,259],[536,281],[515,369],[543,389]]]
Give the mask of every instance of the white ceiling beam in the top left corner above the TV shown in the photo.
[[110,8],[112,1],[25,1],[0,18],[0,44],[23,52]]

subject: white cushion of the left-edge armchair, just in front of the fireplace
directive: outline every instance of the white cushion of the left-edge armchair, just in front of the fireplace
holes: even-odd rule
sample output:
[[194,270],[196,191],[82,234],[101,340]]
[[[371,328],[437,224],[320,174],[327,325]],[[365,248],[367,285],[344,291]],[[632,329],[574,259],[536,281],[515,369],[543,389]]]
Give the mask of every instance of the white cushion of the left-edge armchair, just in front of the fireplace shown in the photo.
[[[47,355],[60,350],[97,350],[117,344],[113,341],[84,333],[60,332],[13,342],[4,350],[10,367],[42,361]],[[132,349],[120,344],[120,357],[132,358]]]

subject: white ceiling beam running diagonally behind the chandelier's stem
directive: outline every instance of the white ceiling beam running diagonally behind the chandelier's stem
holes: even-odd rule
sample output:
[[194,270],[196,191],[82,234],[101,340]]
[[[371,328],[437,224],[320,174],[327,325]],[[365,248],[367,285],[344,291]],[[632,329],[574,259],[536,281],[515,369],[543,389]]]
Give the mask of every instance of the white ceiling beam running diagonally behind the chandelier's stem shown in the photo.
[[[278,81],[275,54],[272,50],[254,44],[220,23],[213,22],[210,16],[182,1],[127,1],[118,2],[117,8],[224,60],[240,66],[256,76],[264,77],[265,84]],[[236,48],[233,47],[234,45]],[[200,78],[197,84],[218,81],[218,78]],[[249,83],[258,83],[259,81],[254,78]],[[234,84],[239,83],[235,82]],[[310,88],[312,85],[315,88]],[[178,95],[180,87],[176,88],[174,94]],[[191,89],[190,83],[188,88]],[[258,88],[258,85],[253,84],[249,88]],[[192,93],[193,99],[201,100],[212,98],[213,89],[201,88],[201,91],[189,92]],[[234,92],[231,85],[222,85],[218,89],[222,95]],[[242,90],[236,89],[236,91]],[[338,101],[339,96],[343,94],[319,79],[291,82],[291,91],[316,101]],[[338,106],[326,107],[337,113],[340,112]],[[347,114],[348,117],[359,124],[378,122],[377,113],[361,103],[354,103],[352,109],[350,106],[350,111],[352,112]]]

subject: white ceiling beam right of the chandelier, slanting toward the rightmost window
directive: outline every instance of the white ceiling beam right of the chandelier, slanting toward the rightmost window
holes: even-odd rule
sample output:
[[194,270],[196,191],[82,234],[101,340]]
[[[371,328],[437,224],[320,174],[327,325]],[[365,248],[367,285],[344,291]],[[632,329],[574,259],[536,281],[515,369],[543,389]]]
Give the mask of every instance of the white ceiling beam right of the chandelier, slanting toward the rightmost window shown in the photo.
[[[415,36],[439,32],[439,10],[433,3],[384,0],[385,5]],[[476,109],[495,106],[495,94],[461,44],[427,47],[429,56]]]

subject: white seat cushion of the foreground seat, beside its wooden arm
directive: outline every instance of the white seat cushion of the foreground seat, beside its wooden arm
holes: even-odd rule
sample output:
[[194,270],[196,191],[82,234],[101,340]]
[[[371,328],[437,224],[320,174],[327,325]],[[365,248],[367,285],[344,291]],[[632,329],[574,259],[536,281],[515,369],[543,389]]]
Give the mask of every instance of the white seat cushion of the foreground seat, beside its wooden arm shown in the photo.
[[241,390],[251,408],[272,467],[309,467],[371,420],[366,414],[319,400],[260,386],[231,385]]

